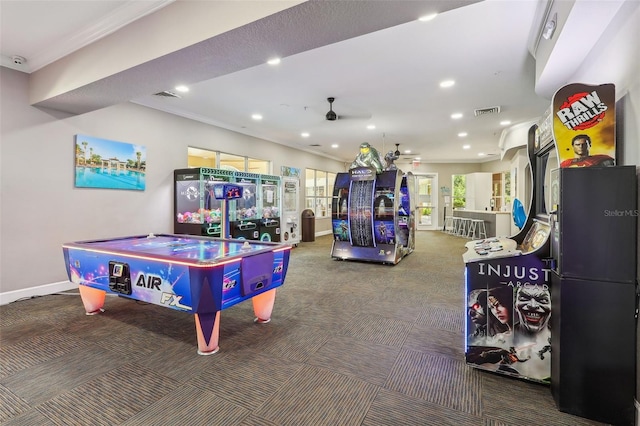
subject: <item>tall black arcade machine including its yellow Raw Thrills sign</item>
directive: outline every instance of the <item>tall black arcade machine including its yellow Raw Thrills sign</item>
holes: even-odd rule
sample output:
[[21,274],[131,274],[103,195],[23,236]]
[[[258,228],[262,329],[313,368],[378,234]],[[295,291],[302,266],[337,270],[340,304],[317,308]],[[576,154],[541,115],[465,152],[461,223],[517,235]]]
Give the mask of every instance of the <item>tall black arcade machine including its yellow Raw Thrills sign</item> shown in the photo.
[[560,411],[633,425],[636,166],[614,166],[613,84],[567,85],[553,110],[561,163],[551,215],[551,393]]

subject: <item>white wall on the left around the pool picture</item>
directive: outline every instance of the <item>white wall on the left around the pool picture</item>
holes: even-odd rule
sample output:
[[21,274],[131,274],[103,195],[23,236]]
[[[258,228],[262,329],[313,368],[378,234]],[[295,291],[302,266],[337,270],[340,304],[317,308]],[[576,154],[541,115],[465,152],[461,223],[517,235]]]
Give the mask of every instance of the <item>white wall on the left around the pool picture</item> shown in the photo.
[[[187,146],[280,166],[340,172],[342,162],[126,103],[68,116],[29,105],[27,74],[0,67],[0,303],[64,283],[65,242],[173,232],[173,170]],[[74,187],[75,134],[147,149],[145,191]],[[62,285],[62,284],[60,284]]]

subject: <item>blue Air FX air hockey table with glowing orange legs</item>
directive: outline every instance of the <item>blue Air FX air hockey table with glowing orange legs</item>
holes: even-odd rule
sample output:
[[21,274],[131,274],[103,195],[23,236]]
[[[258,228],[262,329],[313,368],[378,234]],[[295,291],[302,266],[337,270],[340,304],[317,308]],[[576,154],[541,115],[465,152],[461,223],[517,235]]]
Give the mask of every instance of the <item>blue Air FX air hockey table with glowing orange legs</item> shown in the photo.
[[198,353],[218,352],[220,311],[253,301],[257,323],[271,320],[291,247],[186,235],[140,235],[63,244],[69,280],[87,315],[107,293],[194,315]]

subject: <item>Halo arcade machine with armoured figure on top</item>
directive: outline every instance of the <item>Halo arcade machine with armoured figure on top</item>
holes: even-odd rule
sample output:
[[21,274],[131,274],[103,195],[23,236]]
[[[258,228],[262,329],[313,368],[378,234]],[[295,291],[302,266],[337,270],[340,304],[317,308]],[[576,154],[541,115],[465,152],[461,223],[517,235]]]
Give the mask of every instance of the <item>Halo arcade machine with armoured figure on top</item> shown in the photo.
[[415,247],[413,175],[392,162],[383,170],[375,148],[364,143],[333,192],[331,256],[397,264]]

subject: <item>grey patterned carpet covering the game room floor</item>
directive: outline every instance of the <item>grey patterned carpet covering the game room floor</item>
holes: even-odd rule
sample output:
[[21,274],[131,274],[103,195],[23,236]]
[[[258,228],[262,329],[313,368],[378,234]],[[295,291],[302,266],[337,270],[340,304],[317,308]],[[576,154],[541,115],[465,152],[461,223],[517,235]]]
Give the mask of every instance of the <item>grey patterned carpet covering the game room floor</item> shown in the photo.
[[[396,266],[301,243],[273,319],[222,311],[216,355],[193,316],[71,292],[0,307],[2,425],[597,425],[549,388],[464,363],[466,240],[418,233]],[[60,262],[62,262],[62,256]]]

